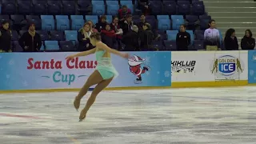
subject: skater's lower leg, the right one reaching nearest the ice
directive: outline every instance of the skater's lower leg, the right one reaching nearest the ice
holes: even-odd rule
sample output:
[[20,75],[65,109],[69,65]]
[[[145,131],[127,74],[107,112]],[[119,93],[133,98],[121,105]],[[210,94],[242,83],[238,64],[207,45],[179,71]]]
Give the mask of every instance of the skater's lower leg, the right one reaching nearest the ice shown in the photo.
[[102,82],[99,82],[97,86],[95,86],[93,92],[90,94],[90,98],[88,99],[86,103],[86,107],[81,111],[79,119],[82,120],[86,118],[87,111],[90,109],[90,106],[92,106],[95,102],[95,99],[97,95],[106,88],[110,84],[113,78],[103,80]]

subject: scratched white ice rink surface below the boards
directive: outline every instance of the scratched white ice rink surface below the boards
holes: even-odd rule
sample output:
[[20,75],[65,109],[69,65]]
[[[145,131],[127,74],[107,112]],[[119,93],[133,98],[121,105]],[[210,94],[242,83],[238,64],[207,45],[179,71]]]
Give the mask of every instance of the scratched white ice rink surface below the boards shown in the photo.
[[254,86],[103,91],[83,122],[76,94],[0,94],[0,143],[256,143]]

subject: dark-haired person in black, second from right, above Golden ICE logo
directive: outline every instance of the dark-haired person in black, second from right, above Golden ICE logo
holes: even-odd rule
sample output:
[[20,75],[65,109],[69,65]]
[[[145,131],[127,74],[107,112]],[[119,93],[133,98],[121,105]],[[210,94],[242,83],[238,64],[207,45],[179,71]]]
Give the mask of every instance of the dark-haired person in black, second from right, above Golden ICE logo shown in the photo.
[[235,30],[226,30],[226,36],[224,38],[224,44],[226,50],[238,50],[238,39],[235,37]]

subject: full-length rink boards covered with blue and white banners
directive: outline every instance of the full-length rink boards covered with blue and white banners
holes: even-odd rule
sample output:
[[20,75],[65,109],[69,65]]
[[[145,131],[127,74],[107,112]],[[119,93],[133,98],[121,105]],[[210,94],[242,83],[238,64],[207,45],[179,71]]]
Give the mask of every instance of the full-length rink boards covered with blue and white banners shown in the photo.
[[[1,92],[78,90],[97,62],[94,55],[67,61],[69,54],[72,53],[0,54]],[[108,90],[256,83],[254,50],[130,52],[128,61],[115,55],[112,61],[119,76]]]

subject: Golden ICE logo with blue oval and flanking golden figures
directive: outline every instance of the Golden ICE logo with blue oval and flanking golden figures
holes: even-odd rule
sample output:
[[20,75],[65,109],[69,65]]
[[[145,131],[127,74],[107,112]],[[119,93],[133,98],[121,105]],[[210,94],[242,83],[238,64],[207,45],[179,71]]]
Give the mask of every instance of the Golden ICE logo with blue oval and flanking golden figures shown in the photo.
[[215,74],[215,80],[239,80],[243,70],[241,60],[232,55],[223,55],[211,65],[211,74]]

